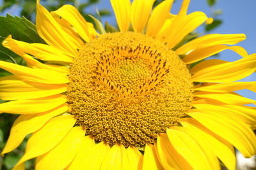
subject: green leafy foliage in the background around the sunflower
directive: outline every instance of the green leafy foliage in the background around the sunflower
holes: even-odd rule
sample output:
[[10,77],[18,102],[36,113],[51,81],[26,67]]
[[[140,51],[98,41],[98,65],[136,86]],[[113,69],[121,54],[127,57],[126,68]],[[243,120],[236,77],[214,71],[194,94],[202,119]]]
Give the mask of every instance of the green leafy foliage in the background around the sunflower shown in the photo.
[[[104,1],[104,0],[102,0]],[[161,3],[163,0],[157,0],[154,3],[154,6]],[[176,0],[181,1],[181,0]],[[207,4],[211,7],[211,15],[209,17],[214,18],[214,22],[209,25],[204,25],[204,32],[191,32],[186,38],[183,39],[182,43],[186,41],[190,41],[193,38],[196,38],[200,34],[204,34],[205,32],[212,31],[216,27],[218,27],[222,21],[220,20],[219,16],[221,15],[221,10],[214,10],[214,4],[216,0],[205,0]],[[104,17],[107,15],[111,15],[109,10],[100,9],[99,11],[95,11],[95,13],[86,13],[85,9],[90,8],[93,4],[99,3],[99,0],[88,0],[88,1],[79,1],[79,0],[41,0],[41,4],[43,4],[49,11],[54,11],[63,6],[63,4],[72,4],[76,6],[76,8],[80,11],[81,15],[88,22],[92,22],[95,24],[97,28],[100,29],[99,23],[97,20],[93,20],[92,17],[89,15],[94,16],[100,20],[100,17]],[[22,17],[13,17],[11,15],[0,16],[0,60],[4,60],[7,62],[13,62],[15,64],[20,64],[22,66],[26,66],[26,62],[16,55],[12,51],[4,48],[1,45],[1,42],[4,38],[8,35],[12,35],[14,39],[25,41],[28,43],[45,43],[43,39],[38,36],[35,25],[35,10],[36,10],[36,1],[35,0],[3,0],[3,4],[0,6],[0,13],[3,11],[10,11],[17,10],[21,7],[20,15]],[[32,22],[31,22],[32,21]],[[94,22],[95,21],[95,22]],[[110,32],[117,31],[115,26],[105,24],[105,29]],[[100,30],[99,30],[100,31]],[[0,77],[8,76],[10,73],[0,69]],[[0,100],[0,103],[4,103],[6,101]],[[10,134],[10,129],[12,127],[13,122],[17,118],[17,115],[11,115],[3,113],[0,117],[0,152],[3,150],[3,147],[8,139]],[[26,141],[28,140],[29,136],[24,139],[22,144],[15,149],[11,153],[7,153],[3,157],[0,157],[0,169],[12,169],[12,167],[16,164],[16,162],[20,159],[23,155],[24,150],[26,148]],[[34,169],[33,162],[35,160],[29,160],[26,162],[26,169]]]

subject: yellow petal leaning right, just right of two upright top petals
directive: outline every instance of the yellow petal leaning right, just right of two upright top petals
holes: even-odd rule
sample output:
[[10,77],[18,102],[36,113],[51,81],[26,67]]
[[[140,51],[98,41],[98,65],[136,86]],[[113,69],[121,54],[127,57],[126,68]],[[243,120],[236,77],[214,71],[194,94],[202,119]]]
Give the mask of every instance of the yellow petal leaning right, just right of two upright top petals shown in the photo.
[[170,16],[169,12],[172,8],[172,3],[173,0],[166,0],[154,8],[147,24],[147,36],[156,36],[166,19]]

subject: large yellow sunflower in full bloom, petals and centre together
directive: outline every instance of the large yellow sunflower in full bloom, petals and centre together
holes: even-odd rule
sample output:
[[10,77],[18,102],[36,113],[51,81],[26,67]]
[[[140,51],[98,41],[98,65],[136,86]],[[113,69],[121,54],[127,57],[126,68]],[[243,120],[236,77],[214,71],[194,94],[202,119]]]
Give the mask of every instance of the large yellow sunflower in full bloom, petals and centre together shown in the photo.
[[[4,153],[32,133],[14,169],[236,169],[234,147],[256,152],[256,55],[244,34],[209,34],[178,46],[204,13],[177,15],[173,0],[111,0],[120,32],[99,34],[69,4],[49,13],[39,0],[36,31],[46,44],[8,36],[3,45],[27,66],[0,61],[1,113],[20,114]],[[132,25],[132,27],[130,27]],[[232,50],[241,59],[208,59]]]

